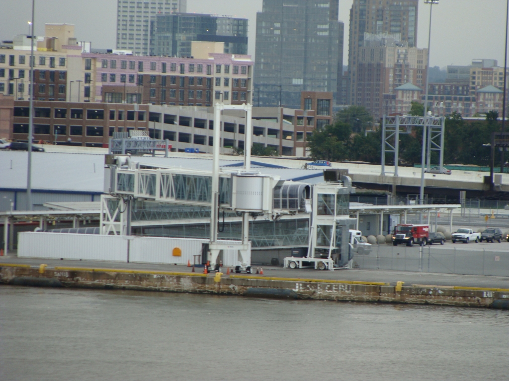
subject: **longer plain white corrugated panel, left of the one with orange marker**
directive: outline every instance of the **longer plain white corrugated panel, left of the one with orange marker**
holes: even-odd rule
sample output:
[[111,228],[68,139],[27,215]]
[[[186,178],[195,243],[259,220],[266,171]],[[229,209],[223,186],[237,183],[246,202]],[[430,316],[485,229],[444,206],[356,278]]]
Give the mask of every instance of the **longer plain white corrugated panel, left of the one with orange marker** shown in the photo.
[[127,262],[127,239],[122,236],[22,232],[18,257]]

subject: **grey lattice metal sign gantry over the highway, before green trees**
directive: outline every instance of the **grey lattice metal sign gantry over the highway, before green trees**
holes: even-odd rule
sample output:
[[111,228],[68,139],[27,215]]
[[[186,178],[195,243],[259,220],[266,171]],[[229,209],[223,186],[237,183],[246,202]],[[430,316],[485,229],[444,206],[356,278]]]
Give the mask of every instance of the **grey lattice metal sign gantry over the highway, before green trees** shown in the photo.
[[[427,167],[431,167],[431,151],[439,151],[440,169],[443,168],[444,161],[444,131],[445,118],[428,116],[426,118],[428,149],[427,149]],[[398,164],[400,156],[400,134],[410,134],[412,127],[424,126],[423,116],[383,116],[382,121],[382,176],[387,173],[385,171],[385,154],[394,152],[394,176],[398,176]],[[424,127],[423,127],[424,128]]]

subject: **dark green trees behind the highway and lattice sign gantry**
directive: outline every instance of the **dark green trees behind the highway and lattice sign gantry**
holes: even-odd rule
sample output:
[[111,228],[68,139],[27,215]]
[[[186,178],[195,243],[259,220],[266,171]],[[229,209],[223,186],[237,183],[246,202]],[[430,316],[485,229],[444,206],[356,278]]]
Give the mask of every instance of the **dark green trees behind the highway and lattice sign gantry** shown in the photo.
[[[411,115],[422,116],[424,107],[412,102]],[[480,116],[480,115],[479,115]],[[466,121],[453,113],[445,119],[444,164],[490,165],[491,134],[500,131],[498,113],[490,111],[484,120]],[[331,162],[355,161],[380,164],[382,149],[381,120],[374,129],[373,117],[361,106],[350,106],[337,113],[333,124],[317,130],[307,140],[313,160]],[[509,127],[509,126],[508,126]],[[371,130],[366,132],[366,130]],[[400,134],[400,165],[413,166],[421,162],[422,127],[410,134]],[[393,153],[386,163],[393,163]],[[438,163],[438,153],[432,152],[432,163]]]

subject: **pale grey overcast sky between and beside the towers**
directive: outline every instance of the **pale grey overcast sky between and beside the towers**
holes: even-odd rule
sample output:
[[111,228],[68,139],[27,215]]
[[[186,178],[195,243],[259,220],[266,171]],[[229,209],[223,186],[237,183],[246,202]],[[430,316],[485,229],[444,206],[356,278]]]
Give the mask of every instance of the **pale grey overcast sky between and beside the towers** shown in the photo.
[[[28,33],[31,0],[0,0],[0,39]],[[345,22],[344,63],[348,62],[348,19],[352,0],[340,0]],[[441,0],[433,6],[431,65],[469,65],[472,58],[494,58],[503,66],[505,0]],[[418,47],[428,46],[429,5],[419,4]],[[233,15],[249,19],[249,54],[254,58],[256,13],[262,0],[187,0],[188,12]],[[44,23],[76,25],[76,38],[96,48],[115,48],[117,0],[36,0],[36,34]]]

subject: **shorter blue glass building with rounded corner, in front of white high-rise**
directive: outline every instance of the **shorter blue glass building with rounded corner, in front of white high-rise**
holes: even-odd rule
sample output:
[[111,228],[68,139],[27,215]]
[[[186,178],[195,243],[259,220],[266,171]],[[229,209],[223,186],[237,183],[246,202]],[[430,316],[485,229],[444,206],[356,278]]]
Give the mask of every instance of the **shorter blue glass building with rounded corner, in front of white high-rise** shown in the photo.
[[223,53],[247,54],[245,18],[157,14],[152,17],[150,30],[151,55],[188,57],[192,41],[223,42]]

